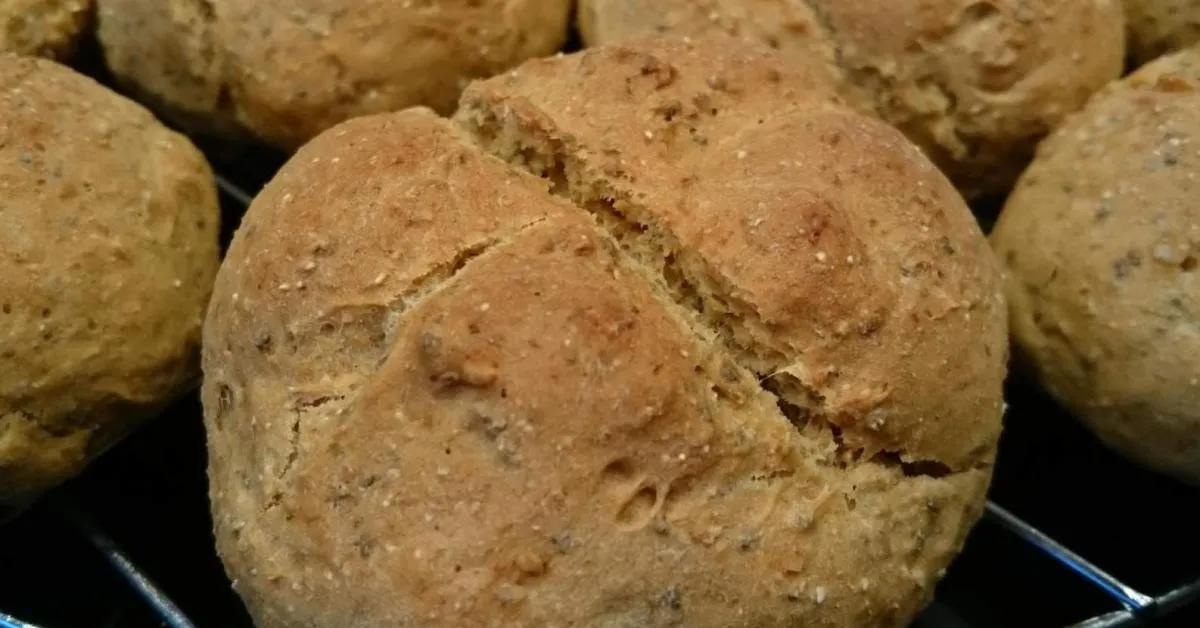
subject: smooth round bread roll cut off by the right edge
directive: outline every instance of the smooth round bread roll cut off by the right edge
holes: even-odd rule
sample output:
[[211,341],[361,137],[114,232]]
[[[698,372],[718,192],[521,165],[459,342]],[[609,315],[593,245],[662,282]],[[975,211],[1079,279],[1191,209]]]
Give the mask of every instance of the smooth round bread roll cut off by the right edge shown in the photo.
[[1013,336],[1105,442],[1200,483],[1200,52],[1098,95],[1039,149],[992,235]]

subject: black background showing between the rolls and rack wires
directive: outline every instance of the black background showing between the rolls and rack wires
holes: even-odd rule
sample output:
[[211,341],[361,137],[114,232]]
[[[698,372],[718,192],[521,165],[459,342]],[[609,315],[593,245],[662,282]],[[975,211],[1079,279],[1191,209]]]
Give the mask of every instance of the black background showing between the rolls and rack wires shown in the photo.
[[[110,83],[95,43],[76,64]],[[257,191],[276,152],[198,142],[218,174]],[[224,197],[226,229],[241,207]],[[984,222],[998,203],[988,203]],[[992,498],[1139,591],[1200,579],[1200,489],[1117,457],[1032,385],[1014,378]],[[197,395],[167,409],[89,472],[0,524],[0,611],[43,628],[156,627],[161,620],[72,526],[76,508],[203,628],[248,627],[214,551]],[[1062,627],[1116,602],[985,519],[918,627]],[[1153,626],[1200,627],[1200,605]]]

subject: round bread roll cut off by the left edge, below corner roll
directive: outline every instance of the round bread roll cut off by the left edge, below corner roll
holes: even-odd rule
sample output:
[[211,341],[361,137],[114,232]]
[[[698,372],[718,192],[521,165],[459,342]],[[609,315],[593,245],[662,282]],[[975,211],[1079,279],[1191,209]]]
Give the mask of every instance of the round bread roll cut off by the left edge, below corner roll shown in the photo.
[[196,382],[217,268],[204,159],[50,61],[0,55],[0,502]]

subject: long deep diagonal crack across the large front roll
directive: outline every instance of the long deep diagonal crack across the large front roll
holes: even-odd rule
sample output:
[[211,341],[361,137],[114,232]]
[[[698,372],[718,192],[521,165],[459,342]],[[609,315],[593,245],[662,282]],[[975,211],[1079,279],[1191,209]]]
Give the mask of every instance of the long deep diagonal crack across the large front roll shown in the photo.
[[[540,137],[546,145],[533,145],[522,139],[524,130],[514,128],[516,122],[474,107],[461,112],[458,121],[486,152],[548,180],[552,193],[588,213],[618,244],[626,262],[652,285],[652,292],[680,315],[690,331],[722,347],[737,375],[752,377],[757,388],[775,400],[780,420],[805,433],[811,433],[804,430],[806,426],[816,427],[814,431],[832,439],[828,463],[840,468],[874,463],[895,468],[910,478],[944,478],[985,466],[953,469],[938,460],[906,460],[902,450],[872,451],[866,456],[864,449],[848,447],[824,397],[788,372],[793,365],[785,354],[758,340],[769,331],[755,307],[733,294],[704,259],[679,246],[676,235],[649,211],[605,181],[586,178],[582,165],[572,162],[557,138]],[[714,391],[720,393],[719,388],[714,384]]]

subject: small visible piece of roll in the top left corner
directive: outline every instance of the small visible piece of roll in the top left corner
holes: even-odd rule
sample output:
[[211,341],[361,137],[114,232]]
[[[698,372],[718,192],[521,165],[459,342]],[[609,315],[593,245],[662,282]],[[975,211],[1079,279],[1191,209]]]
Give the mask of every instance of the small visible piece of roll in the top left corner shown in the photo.
[[62,59],[74,49],[91,0],[0,0],[0,53]]

